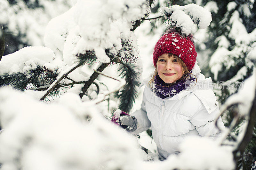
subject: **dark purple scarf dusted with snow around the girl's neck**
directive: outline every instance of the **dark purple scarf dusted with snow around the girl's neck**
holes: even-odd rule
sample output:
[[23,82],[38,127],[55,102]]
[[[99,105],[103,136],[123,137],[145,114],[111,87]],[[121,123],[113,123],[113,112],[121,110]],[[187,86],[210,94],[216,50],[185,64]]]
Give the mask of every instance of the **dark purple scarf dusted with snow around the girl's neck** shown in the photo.
[[[176,81],[174,84],[169,86],[170,84],[165,83],[157,74],[153,81],[153,83],[155,85],[155,87],[153,87],[153,89],[156,92],[156,96],[160,97],[161,99],[164,99],[166,97],[171,98],[172,96],[174,96],[174,95],[180,93],[182,90],[186,89],[186,86],[188,84],[186,84],[185,82],[187,80],[194,81],[195,78],[188,77],[185,80]],[[164,86],[164,87],[162,87],[162,86]],[[167,86],[169,86],[169,87],[167,87]]]

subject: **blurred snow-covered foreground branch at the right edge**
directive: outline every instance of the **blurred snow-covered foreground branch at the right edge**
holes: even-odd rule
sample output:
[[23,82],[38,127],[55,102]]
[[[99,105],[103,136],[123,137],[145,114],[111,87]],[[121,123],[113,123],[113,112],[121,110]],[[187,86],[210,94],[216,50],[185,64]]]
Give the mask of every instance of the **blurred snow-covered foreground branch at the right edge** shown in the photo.
[[[253,94],[253,95],[251,95]],[[238,105],[238,111],[220,140],[223,144],[225,138],[230,134],[238,121],[244,119],[243,130],[236,137],[235,145],[233,146],[233,155],[235,160],[241,158],[246,145],[252,138],[252,131],[256,121],[256,73],[255,68],[253,74],[244,81],[244,88],[230,96],[220,108],[221,113],[227,110],[229,106]]]

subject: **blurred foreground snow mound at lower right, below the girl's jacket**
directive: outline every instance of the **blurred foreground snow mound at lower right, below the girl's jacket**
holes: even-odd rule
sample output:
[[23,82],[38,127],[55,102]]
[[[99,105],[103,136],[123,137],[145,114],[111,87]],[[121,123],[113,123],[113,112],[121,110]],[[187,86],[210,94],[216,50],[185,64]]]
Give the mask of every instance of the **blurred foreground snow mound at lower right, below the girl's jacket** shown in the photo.
[[[180,169],[191,170],[232,170],[235,168],[232,149],[218,145],[206,138],[190,137],[180,145],[181,152],[166,160]],[[175,167],[175,166],[174,166]]]

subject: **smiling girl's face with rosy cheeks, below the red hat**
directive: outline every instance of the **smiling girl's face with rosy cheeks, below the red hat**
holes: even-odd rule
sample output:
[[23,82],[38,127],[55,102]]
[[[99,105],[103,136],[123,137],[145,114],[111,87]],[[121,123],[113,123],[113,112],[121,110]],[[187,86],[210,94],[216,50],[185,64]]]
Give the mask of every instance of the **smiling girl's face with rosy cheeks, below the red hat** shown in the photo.
[[157,73],[168,84],[179,80],[183,75],[182,67],[174,55],[169,57],[168,53],[164,53],[157,59]]

